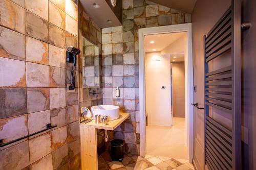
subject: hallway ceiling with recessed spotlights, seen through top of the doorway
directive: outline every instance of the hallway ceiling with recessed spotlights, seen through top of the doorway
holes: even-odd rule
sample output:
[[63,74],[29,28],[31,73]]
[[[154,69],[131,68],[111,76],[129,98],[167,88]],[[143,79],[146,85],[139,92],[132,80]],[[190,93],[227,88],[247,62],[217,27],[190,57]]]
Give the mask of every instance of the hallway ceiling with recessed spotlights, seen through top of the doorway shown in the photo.
[[[154,34],[145,36],[145,52],[160,52],[169,44],[172,44],[186,33]],[[154,41],[155,43],[150,43]],[[156,51],[153,51],[155,49]]]

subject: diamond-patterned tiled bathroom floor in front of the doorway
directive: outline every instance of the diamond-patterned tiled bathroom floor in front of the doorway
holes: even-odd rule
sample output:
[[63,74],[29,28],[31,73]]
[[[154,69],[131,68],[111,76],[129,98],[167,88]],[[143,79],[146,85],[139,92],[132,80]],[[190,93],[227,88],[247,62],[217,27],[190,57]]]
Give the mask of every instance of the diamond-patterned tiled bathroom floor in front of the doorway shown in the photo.
[[194,170],[193,164],[188,160],[174,159],[160,156],[146,155],[145,157],[136,155],[125,155],[122,162],[112,161],[110,153],[105,151],[98,157],[98,169],[118,169],[118,170]]

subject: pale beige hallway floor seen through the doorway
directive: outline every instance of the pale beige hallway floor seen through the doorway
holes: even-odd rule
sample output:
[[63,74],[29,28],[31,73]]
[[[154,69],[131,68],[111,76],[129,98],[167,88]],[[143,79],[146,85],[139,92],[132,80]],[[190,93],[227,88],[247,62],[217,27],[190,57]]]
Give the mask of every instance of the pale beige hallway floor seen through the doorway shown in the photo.
[[185,143],[185,118],[174,117],[173,127],[148,125],[146,153],[169,158],[188,159]]

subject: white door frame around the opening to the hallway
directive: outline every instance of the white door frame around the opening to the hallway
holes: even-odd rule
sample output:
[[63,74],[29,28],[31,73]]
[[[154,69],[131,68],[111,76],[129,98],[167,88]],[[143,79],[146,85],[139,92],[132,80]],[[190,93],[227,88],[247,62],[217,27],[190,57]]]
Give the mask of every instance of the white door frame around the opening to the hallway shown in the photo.
[[188,160],[192,162],[194,154],[194,82],[191,23],[139,29],[139,108],[140,108],[140,155],[146,153],[146,116],[145,116],[145,52],[144,36],[162,33],[186,33],[187,51],[185,52],[185,121],[187,122]]

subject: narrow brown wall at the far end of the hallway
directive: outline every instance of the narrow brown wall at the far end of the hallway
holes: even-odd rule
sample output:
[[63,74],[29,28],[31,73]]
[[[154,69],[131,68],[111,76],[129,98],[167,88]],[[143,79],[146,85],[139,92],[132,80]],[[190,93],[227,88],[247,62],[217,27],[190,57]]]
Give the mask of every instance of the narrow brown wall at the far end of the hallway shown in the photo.
[[173,68],[173,116],[185,117],[185,65],[172,62]]

